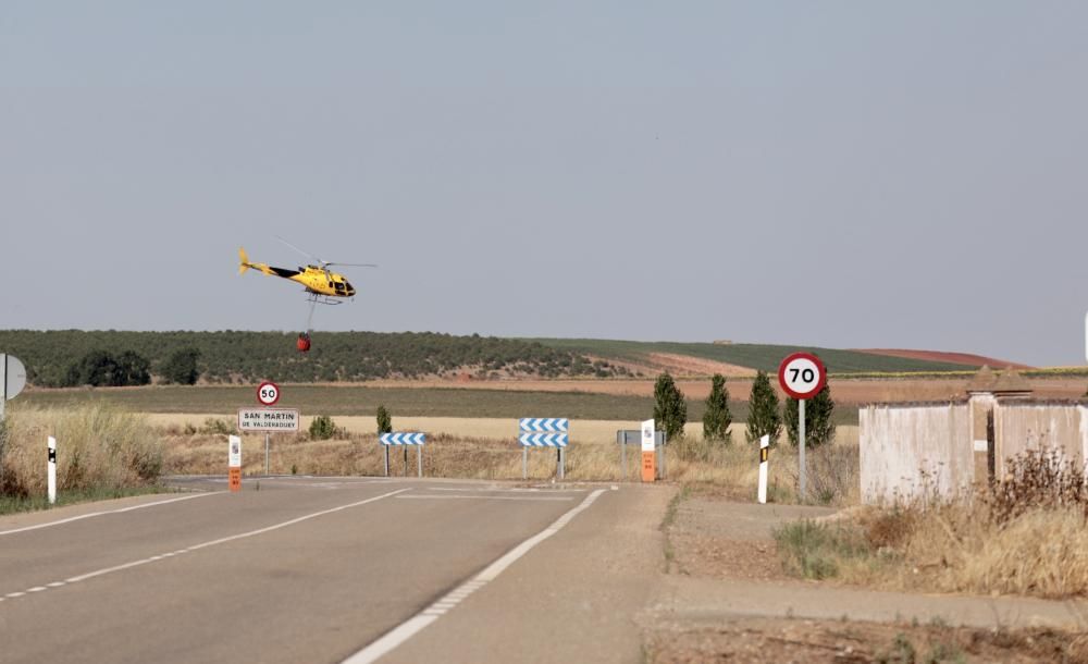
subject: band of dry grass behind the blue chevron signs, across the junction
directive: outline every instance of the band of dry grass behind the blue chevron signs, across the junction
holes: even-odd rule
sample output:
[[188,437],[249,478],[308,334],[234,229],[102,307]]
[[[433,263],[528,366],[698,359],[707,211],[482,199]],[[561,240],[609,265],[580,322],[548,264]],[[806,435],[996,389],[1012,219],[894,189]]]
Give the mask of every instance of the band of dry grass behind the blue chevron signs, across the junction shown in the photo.
[[[203,416],[152,416],[165,440],[165,471],[170,474],[223,474],[226,436],[231,420]],[[382,475],[384,450],[374,433],[372,418],[334,418],[344,433],[334,440],[312,441],[305,433],[273,434],[269,470],[276,475]],[[521,446],[516,442],[517,425],[508,419],[397,418],[398,430],[428,433],[423,448],[423,474],[428,477],[518,480],[522,477]],[[302,429],[306,429],[306,421]],[[566,452],[565,479],[570,481],[640,481],[641,450],[628,445],[627,472],[621,466],[617,429],[636,429],[636,422],[576,420],[571,422],[571,444]],[[473,434],[474,433],[474,434]],[[491,434],[491,435],[487,435]],[[735,438],[743,439],[738,431]],[[836,489],[828,488],[825,502],[845,504],[857,500],[856,445],[836,444],[827,451],[809,453],[820,467],[821,456],[849,465],[839,469]],[[391,472],[405,471],[404,448],[390,451]],[[556,477],[556,451],[529,451],[529,477],[546,480]],[[408,451],[408,474],[416,472],[416,451]],[[826,465],[826,464],[825,464]],[[772,502],[796,500],[796,453],[782,446],[771,454],[769,499]],[[243,436],[243,472],[264,471],[264,435]],[[754,445],[710,444],[695,433],[667,447],[667,479],[682,483],[713,485],[740,499],[753,500],[758,479],[758,451]],[[813,471],[809,477],[815,479]],[[819,482],[814,481],[814,485]],[[825,482],[830,487],[830,482]]]

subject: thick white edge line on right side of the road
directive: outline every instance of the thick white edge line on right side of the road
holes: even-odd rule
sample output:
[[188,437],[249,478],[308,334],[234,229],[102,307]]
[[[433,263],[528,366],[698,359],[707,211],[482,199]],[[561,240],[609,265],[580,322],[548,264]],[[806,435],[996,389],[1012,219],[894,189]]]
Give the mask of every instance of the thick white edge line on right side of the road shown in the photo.
[[480,588],[483,588],[490,581],[493,581],[498,575],[503,574],[503,570],[512,565],[518,558],[529,553],[533,546],[559,532],[559,530],[569,524],[572,518],[578,516],[581,512],[588,509],[589,506],[592,505],[593,502],[596,501],[597,497],[604,492],[604,489],[597,489],[590,495],[585,496],[584,501],[560,516],[554,524],[515,546],[506,555],[498,558],[489,565],[483,571],[472,577],[472,579],[461,583],[442,599],[435,601],[423,611],[408,618],[395,627],[393,631],[387,632],[370,645],[367,645],[350,657],[344,660],[343,664],[370,664],[371,662],[375,662],[380,657],[392,652],[398,645],[422,631],[424,627],[445,615],[447,611],[452,611],[455,606],[457,606],[457,604],[468,598],[468,595],[472,594]]

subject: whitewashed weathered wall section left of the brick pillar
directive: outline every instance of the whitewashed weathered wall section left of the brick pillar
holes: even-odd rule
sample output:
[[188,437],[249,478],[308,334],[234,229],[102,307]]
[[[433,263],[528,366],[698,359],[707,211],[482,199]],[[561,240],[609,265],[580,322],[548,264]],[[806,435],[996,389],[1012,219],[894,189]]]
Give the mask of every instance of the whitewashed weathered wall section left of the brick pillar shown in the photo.
[[966,404],[866,406],[858,419],[863,503],[953,496],[974,482]]

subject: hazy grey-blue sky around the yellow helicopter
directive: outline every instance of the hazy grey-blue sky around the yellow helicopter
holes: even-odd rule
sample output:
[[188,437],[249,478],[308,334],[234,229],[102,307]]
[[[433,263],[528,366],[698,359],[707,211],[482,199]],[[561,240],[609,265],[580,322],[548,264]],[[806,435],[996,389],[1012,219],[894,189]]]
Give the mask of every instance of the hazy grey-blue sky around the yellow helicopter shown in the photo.
[[0,3],[0,328],[1085,362],[1088,3]]

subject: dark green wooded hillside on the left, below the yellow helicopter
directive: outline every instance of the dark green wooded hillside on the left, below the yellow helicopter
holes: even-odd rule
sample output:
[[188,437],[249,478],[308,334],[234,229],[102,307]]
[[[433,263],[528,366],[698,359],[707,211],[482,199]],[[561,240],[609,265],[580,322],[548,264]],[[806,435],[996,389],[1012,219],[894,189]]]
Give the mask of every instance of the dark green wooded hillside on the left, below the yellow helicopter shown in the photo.
[[456,377],[628,376],[626,368],[539,342],[433,332],[317,332],[309,353],[294,333],[0,330],[38,386],[361,382]]

